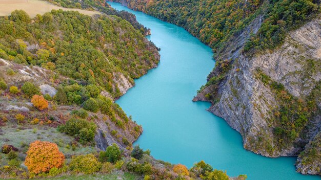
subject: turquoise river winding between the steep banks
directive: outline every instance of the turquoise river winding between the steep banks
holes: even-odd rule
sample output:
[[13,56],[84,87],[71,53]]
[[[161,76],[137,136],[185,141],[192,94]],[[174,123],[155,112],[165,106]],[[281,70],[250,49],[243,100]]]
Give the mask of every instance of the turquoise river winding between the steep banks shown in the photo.
[[136,79],[136,86],[116,102],[143,126],[135,144],[156,159],[192,167],[204,160],[230,176],[248,179],[320,179],[295,171],[295,158],[266,158],[243,148],[242,137],[222,118],[206,111],[207,102],[192,102],[215,61],[212,51],[183,28],[121,4],[114,9],[136,15],[151,29],[148,38],[161,49],[158,68]]

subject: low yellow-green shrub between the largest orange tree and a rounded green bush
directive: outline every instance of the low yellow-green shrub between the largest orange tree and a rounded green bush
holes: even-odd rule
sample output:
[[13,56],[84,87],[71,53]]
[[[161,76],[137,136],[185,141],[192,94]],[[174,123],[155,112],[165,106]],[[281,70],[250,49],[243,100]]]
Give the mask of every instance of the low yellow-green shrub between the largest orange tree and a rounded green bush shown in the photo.
[[74,172],[90,174],[101,169],[102,163],[98,162],[93,154],[78,155],[70,161],[69,169]]

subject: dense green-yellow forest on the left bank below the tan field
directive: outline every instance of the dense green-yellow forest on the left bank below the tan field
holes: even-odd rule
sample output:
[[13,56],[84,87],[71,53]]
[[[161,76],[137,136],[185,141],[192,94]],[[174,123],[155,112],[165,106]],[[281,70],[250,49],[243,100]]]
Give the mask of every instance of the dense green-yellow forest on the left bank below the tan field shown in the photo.
[[115,76],[133,82],[158,61],[153,44],[118,16],[52,10],[30,19],[16,10],[0,25],[0,57],[99,84],[113,97],[121,96]]

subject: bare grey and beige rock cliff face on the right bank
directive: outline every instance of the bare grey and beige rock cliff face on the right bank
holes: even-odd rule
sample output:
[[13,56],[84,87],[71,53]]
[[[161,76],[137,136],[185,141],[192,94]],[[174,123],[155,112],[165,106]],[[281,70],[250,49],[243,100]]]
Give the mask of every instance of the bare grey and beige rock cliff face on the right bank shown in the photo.
[[[309,148],[321,130],[320,116],[315,116],[308,123],[302,132],[305,136],[300,136],[287,147],[277,147],[271,119],[274,116],[273,109],[279,106],[278,99],[270,87],[257,78],[257,70],[271,77],[271,80],[282,83],[294,97],[308,96],[321,79],[321,20],[314,19],[291,32],[283,46],[276,50],[254,57],[230,53],[230,58],[233,59],[232,66],[224,80],[216,86],[207,86],[194,100],[209,101],[209,95],[215,96],[216,100],[212,101],[209,111],[224,118],[239,131],[244,147],[255,153],[272,157],[292,156]],[[209,79],[217,76],[215,70]],[[318,108],[321,108],[320,98],[316,101]],[[307,145],[302,148],[304,144]],[[320,157],[320,149],[316,148],[316,151]],[[304,174],[320,173],[319,159],[312,160],[313,163],[307,166],[303,165],[302,159],[303,156],[298,160],[298,171]]]

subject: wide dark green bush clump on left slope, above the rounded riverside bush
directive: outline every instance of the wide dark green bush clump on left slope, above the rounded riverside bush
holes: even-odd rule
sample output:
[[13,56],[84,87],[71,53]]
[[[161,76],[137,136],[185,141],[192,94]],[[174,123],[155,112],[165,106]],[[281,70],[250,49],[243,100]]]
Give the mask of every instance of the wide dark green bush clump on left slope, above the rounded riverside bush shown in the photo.
[[70,119],[65,125],[58,126],[58,130],[70,136],[78,137],[79,142],[86,144],[93,142],[96,132],[96,124],[84,119]]

